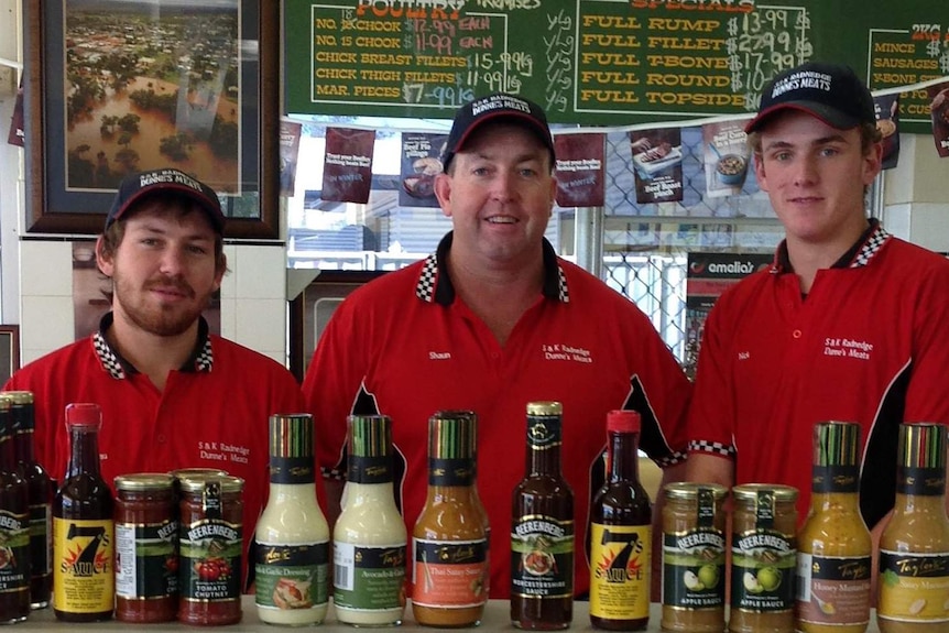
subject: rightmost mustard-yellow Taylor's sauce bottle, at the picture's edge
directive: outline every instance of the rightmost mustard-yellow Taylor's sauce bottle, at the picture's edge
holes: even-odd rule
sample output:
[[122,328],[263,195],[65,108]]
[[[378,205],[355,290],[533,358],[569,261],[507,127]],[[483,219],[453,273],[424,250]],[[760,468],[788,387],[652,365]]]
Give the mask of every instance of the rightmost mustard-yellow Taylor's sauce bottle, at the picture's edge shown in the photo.
[[880,537],[880,633],[949,630],[946,426],[902,424],[896,504]]

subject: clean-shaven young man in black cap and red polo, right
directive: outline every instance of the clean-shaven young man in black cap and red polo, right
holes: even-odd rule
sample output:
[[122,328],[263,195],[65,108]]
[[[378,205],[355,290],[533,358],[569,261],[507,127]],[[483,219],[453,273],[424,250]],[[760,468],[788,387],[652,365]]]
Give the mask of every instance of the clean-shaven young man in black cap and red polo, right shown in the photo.
[[688,478],[811,489],[812,427],[862,426],[860,504],[877,534],[893,508],[903,422],[949,422],[949,262],[864,209],[882,148],[873,98],[846,67],[778,75],[745,130],[786,238],[726,292],[705,326]]

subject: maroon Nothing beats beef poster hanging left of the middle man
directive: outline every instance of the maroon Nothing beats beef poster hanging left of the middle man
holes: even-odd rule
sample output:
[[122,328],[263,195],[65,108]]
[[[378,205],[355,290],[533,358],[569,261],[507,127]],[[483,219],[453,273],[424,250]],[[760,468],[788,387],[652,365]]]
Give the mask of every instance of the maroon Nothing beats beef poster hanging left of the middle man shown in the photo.
[[374,130],[326,129],[326,157],[323,166],[324,200],[369,201],[372,187]]

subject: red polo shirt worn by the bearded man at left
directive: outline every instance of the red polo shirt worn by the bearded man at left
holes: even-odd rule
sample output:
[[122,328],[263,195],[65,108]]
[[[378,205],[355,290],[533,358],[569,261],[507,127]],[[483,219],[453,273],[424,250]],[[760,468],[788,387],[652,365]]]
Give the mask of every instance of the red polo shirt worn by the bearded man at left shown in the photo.
[[163,391],[134,370],[100,332],[18,371],[4,390],[33,392],[36,458],[59,480],[69,460],[66,405],[102,410],[99,461],[110,484],[119,474],[220,468],[244,480],[244,577],[248,544],[270,487],[269,417],[302,411],[296,380],[283,365],[207,334],[201,320],[195,354],[168,374]]

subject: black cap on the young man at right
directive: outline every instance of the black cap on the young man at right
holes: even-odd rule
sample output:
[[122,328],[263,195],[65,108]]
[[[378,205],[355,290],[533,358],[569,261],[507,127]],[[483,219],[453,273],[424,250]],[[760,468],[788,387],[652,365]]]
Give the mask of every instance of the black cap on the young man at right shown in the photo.
[[757,114],[744,131],[761,129],[767,118],[787,109],[807,112],[838,130],[876,123],[873,96],[842,64],[808,62],[777,75],[762,91]]

